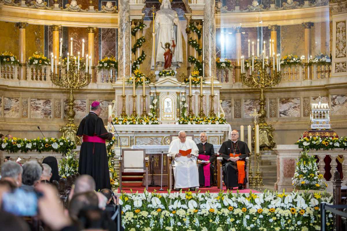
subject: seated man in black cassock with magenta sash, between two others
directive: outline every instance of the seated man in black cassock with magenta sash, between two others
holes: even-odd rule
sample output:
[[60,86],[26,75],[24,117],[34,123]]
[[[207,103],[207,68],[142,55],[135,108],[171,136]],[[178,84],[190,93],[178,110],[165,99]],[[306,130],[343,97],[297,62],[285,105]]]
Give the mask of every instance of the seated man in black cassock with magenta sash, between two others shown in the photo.
[[[200,133],[201,143],[196,144],[199,149],[198,167],[200,186],[211,187],[214,183],[214,155],[213,144],[207,142],[206,132]],[[202,162],[206,161],[206,162]]]

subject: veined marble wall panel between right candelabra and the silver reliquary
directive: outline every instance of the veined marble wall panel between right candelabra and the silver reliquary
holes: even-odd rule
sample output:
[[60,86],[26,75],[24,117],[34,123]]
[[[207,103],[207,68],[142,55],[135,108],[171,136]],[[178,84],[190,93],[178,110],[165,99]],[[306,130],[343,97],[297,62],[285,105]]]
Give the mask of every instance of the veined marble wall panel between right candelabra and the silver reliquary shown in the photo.
[[279,98],[280,117],[300,117],[300,98]]

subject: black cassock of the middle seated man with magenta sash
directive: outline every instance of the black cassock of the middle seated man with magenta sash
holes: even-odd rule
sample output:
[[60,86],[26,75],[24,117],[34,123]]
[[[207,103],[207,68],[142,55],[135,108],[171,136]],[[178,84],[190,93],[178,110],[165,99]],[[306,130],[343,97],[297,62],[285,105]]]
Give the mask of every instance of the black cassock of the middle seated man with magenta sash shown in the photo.
[[[216,156],[214,154],[214,148],[213,148],[213,144],[210,143],[205,143],[205,151],[204,151],[204,147],[203,144],[200,142],[198,144],[196,144],[196,146],[199,149],[199,155],[200,154],[204,154],[206,156],[210,156],[210,186],[213,185],[214,183],[214,160],[216,159]],[[205,185],[205,176],[204,176],[204,164],[199,163],[198,164],[198,170],[199,170],[199,185],[204,186]]]

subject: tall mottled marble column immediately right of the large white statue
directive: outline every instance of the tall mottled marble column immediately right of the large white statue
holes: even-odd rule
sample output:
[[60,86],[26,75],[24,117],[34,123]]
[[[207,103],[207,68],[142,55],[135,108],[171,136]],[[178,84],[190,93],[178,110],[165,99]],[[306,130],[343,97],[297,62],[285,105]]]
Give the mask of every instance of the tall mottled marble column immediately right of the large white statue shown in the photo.
[[204,8],[204,77],[205,80],[216,78],[216,22],[215,2],[206,0]]

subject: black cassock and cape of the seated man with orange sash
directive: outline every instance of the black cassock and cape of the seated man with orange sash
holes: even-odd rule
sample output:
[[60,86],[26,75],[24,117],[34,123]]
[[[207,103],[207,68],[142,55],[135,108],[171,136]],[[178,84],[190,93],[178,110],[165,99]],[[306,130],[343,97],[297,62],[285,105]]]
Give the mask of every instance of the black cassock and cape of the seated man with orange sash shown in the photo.
[[[230,153],[234,153],[234,151],[235,154],[241,154],[239,157],[242,160],[245,160],[245,158],[248,157],[248,153],[250,153],[247,144],[243,141],[238,140],[233,144],[231,140],[223,142],[218,152],[221,153],[221,157],[223,158],[223,181],[227,188],[240,186],[240,184],[238,183],[238,171],[236,162],[228,160],[230,158]],[[247,177],[245,177],[244,179],[244,183],[246,182]]]

